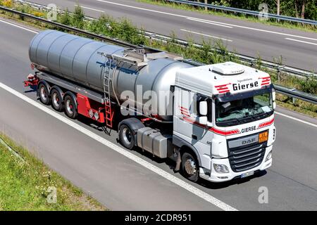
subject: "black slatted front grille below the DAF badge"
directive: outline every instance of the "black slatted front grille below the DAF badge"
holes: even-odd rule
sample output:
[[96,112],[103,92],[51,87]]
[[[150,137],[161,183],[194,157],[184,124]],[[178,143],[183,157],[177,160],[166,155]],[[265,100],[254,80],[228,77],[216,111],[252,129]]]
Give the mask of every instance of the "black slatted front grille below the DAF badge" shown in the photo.
[[266,153],[266,142],[228,148],[228,151],[232,171],[242,172],[261,164]]

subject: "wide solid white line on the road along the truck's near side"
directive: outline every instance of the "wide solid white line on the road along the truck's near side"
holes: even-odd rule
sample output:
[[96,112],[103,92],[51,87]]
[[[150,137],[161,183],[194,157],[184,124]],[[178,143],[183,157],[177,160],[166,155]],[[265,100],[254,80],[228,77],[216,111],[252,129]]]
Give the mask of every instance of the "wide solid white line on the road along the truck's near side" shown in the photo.
[[221,210],[237,211],[234,207],[231,207],[230,205],[223,203],[222,201],[209,195],[208,193],[201,191],[199,188],[196,188],[196,187],[192,186],[191,184],[188,184],[187,182],[182,181],[181,179],[177,178],[176,176],[169,174],[168,172],[164,171],[163,169],[160,169],[159,167],[152,165],[151,163],[143,160],[142,158],[139,158],[136,155],[133,155],[128,150],[125,150],[124,148],[117,146],[116,144],[112,143],[111,141],[108,141],[108,140],[102,138],[101,136],[94,134],[92,131],[89,131],[85,127],[82,127],[79,124],[76,124],[75,122],[69,120],[66,117],[63,117],[62,115],[56,113],[53,110],[50,110],[49,108],[46,108],[44,105],[41,105],[40,103],[37,103],[36,101],[32,100],[31,98],[28,98],[27,96],[25,96],[23,94],[20,94],[20,92],[15,91],[14,89],[11,89],[11,87],[6,86],[6,84],[2,84],[0,82],[0,88],[10,92],[11,94],[17,96],[18,98],[22,99],[25,102],[30,103],[30,105],[33,105],[36,108],[39,108],[39,110],[42,110],[42,111],[44,111],[44,113],[47,113],[47,114],[55,117],[57,120],[60,120],[61,122],[65,123],[65,124],[68,124],[70,127],[73,127],[77,131],[80,131],[82,134],[85,134],[85,135],[89,136],[90,138],[94,139],[95,141],[102,143],[104,146],[107,146],[108,148],[115,150],[117,153],[124,155],[126,158],[129,158],[130,160],[137,162],[139,165],[142,165],[143,167],[150,169],[152,172],[159,174],[163,178],[168,179],[169,181],[184,188],[185,190],[189,191],[190,193],[197,195],[199,198],[202,198],[203,200],[206,200],[207,202],[211,203],[212,205],[219,207]]

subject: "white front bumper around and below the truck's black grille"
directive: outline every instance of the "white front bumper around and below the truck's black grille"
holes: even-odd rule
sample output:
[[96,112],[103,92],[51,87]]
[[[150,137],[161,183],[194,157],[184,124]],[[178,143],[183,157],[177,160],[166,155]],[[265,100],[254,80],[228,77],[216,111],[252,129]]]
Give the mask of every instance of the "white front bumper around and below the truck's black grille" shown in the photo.
[[266,147],[266,153],[264,155],[264,158],[263,158],[263,161],[261,162],[261,164],[257,167],[245,170],[243,172],[233,172],[231,167],[230,167],[230,163],[229,163],[228,158],[225,158],[225,159],[213,158],[213,159],[211,159],[211,165],[213,165],[213,163],[226,165],[229,169],[229,172],[228,173],[218,173],[213,169],[213,166],[211,166],[211,171],[210,170],[206,171],[204,168],[200,168],[199,169],[199,176],[202,179],[206,179],[206,180],[211,181],[211,182],[225,182],[225,181],[230,181],[230,180],[234,179],[235,177],[239,177],[242,174],[245,174],[247,172],[252,172],[252,171],[255,172],[258,170],[265,170],[268,167],[271,167],[271,165],[272,165],[272,158],[265,162],[266,156],[268,155],[268,153],[271,152],[271,150],[272,150],[272,146]]

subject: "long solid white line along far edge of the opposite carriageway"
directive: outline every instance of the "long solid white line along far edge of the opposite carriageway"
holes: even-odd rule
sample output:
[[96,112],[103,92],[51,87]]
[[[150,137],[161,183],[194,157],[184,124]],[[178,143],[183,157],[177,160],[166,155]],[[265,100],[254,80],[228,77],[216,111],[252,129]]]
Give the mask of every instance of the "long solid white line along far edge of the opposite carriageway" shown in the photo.
[[298,38],[302,38],[302,39],[310,39],[310,40],[315,40],[317,41],[317,39],[311,38],[311,37],[302,37],[302,36],[298,36],[298,35],[294,35],[294,34],[285,34],[285,33],[280,33],[280,32],[274,32],[274,31],[270,31],[270,30],[261,30],[261,29],[257,29],[257,28],[252,28],[252,27],[245,27],[245,26],[240,26],[240,25],[233,25],[230,23],[220,23],[217,21],[213,21],[213,20],[204,20],[204,19],[200,19],[200,18],[192,18],[186,15],[178,15],[178,14],[173,14],[173,13],[166,13],[166,12],[162,12],[162,11],[155,11],[149,8],[140,8],[137,6],[128,6],[125,4],[118,4],[116,2],[112,2],[112,1],[104,1],[104,0],[96,0],[96,1],[100,1],[100,2],[104,2],[107,4],[113,4],[113,5],[117,5],[117,6],[124,6],[124,7],[128,7],[128,8],[135,8],[135,9],[139,9],[139,10],[143,10],[143,11],[149,11],[149,12],[153,12],[153,13],[161,13],[164,15],[173,15],[173,16],[177,16],[177,17],[181,17],[181,18],[191,18],[194,20],[201,20],[201,21],[206,21],[206,22],[210,22],[210,23],[218,23],[218,24],[222,24],[222,25],[228,25],[228,26],[232,26],[232,27],[240,27],[240,28],[244,28],[244,29],[249,29],[249,30],[256,30],[256,31],[260,31],[260,32],[268,32],[268,33],[272,33],[272,34],[279,34],[279,35],[284,35],[284,36],[289,36],[289,37],[298,37]]

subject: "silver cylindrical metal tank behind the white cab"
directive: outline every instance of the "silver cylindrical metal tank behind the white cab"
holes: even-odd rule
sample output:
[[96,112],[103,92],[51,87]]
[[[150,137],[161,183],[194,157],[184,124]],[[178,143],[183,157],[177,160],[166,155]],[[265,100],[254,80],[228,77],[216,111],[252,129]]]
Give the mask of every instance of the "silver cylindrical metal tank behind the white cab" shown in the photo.
[[[131,91],[137,96],[139,86],[142,87],[142,96],[145,91],[154,91],[156,94],[159,91],[170,91],[170,86],[175,84],[176,71],[193,66],[163,51],[126,49],[56,30],[39,32],[30,43],[29,57],[37,70],[99,92],[105,91],[106,70],[106,73],[113,74],[110,96],[116,99],[120,99],[123,91]],[[144,105],[147,101],[142,100],[136,104]],[[172,119],[164,116],[166,112],[160,106],[156,113],[163,115],[162,120]]]

